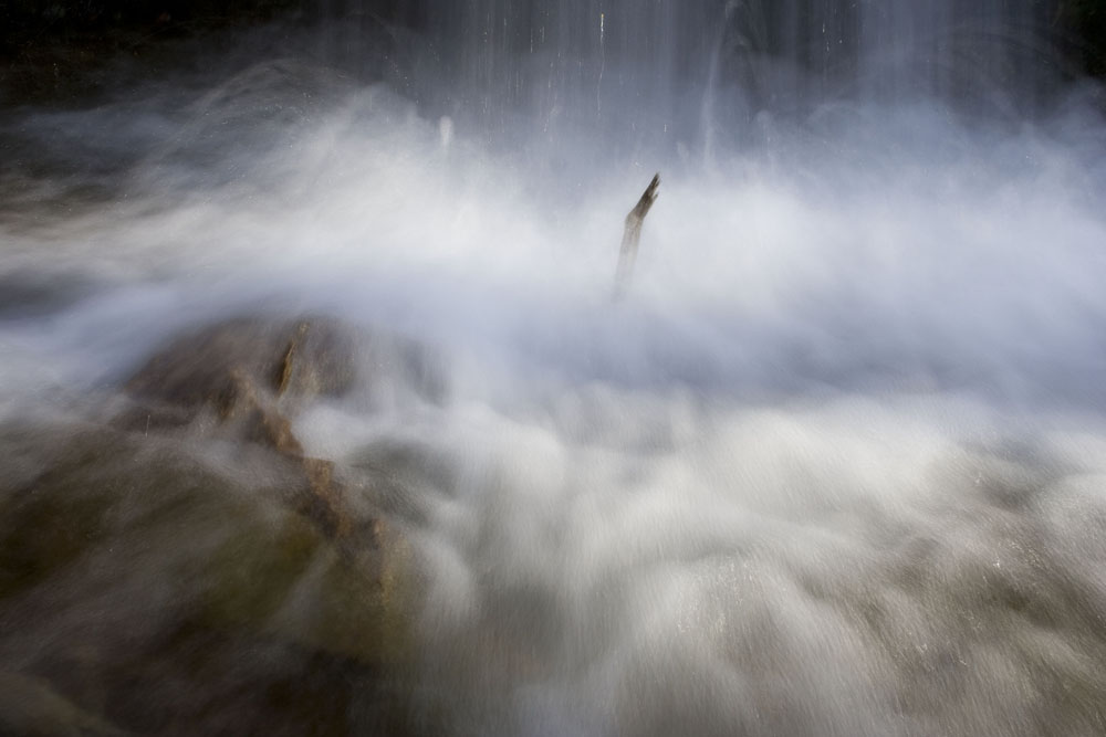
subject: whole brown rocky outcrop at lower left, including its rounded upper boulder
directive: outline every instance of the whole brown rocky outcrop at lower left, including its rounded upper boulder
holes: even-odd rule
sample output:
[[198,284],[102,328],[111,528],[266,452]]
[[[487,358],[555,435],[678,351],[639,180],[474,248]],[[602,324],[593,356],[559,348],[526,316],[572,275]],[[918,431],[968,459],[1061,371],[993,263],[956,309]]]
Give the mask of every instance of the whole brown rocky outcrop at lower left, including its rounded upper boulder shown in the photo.
[[0,733],[410,734],[403,489],[382,505],[293,431],[374,349],[230,320],[157,351],[106,425],[0,427],[0,681],[33,696]]

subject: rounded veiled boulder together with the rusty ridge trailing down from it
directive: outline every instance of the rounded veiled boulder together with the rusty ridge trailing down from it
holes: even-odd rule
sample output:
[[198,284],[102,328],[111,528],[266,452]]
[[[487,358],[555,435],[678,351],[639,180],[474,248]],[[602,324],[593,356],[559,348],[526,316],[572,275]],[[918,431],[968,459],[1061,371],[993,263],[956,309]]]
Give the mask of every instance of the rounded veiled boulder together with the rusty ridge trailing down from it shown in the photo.
[[[440,396],[426,351],[401,338],[365,336],[328,317],[226,320],[169,341],[127,380],[133,406],[116,427],[144,434],[189,428],[269,449],[294,462],[294,507],[326,535],[375,545],[382,523],[358,523],[328,460],[307,457],[292,419],[311,401],[349,392],[358,360]],[[437,393],[436,393],[437,392]]]

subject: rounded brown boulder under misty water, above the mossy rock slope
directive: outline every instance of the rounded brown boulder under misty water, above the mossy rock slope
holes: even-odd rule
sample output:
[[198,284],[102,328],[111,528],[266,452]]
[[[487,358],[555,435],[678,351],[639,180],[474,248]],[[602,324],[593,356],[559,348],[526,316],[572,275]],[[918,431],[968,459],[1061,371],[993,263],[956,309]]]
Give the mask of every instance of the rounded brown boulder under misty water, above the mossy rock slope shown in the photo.
[[321,316],[241,317],[169,340],[126,381],[136,406],[122,422],[147,430],[199,422],[280,446],[285,428],[319,399],[355,388],[440,402],[445,381],[431,352],[386,331]]

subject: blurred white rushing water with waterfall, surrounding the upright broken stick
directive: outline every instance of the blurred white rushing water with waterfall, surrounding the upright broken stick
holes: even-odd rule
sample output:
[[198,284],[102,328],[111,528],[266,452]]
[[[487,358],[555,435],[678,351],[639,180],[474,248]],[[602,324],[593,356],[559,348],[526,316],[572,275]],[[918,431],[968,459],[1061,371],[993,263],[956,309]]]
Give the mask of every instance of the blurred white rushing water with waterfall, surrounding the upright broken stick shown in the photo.
[[416,714],[1102,734],[1106,127],[1037,3],[917,4],[429,3],[384,83],[338,24],[13,109],[0,413],[95,414],[221,316],[385,326],[447,398],[294,430],[420,459]]

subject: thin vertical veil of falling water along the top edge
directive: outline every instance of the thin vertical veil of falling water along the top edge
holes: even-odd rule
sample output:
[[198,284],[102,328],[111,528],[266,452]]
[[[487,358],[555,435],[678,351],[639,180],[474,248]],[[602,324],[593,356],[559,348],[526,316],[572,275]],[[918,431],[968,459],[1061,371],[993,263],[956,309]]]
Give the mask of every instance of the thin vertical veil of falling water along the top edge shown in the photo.
[[[484,120],[530,114],[604,127],[700,126],[827,102],[920,97],[987,113],[1031,104],[1056,77],[1039,0],[414,0],[449,92]],[[740,115],[739,115],[740,113]]]

